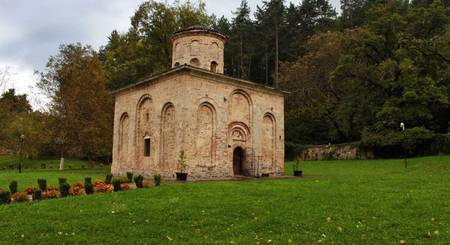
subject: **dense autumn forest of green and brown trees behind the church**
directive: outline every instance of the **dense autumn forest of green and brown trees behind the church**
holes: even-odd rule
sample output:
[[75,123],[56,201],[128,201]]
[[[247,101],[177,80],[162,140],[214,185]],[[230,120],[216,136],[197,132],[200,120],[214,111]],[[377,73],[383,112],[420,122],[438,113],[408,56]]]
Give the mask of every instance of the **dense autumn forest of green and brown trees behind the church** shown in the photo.
[[328,0],[264,0],[252,10],[243,0],[227,19],[203,2],[145,2],[100,50],[69,44],[49,58],[39,83],[52,99],[47,112],[13,90],[2,95],[0,145],[17,152],[27,134],[30,155],[110,155],[109,92],[169,69],[172,33],[203,25],[228,37],[227,75],[290,92],[288,150],[360,142],[386,156],[449,151],[448,5],[341,0],[338,11]]

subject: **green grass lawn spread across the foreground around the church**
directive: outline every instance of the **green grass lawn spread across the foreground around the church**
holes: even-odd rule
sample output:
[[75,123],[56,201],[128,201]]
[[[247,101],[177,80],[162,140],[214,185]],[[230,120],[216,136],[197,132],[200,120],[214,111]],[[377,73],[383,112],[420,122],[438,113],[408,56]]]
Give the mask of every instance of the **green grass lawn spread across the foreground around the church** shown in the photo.
[[[3,205],[0,244],[450,242],[450,156],[411,159],[408,169],[401,160],[380,160],[306,162],[302,170],[300,179],[170,184]],[[59,173],[22,175],[19,185],[42,175]],[[11,178],[19,176],[0,172],[0,186]]]

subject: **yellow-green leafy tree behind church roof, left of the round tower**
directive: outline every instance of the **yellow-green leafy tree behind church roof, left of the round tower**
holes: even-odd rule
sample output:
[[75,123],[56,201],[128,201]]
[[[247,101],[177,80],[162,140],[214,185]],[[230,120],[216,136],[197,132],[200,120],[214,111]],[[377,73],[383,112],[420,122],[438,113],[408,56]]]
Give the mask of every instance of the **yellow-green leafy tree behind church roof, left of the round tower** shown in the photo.
[[201,2],[144,2],[131,18],[129,31],[113,31],[102,51],[108,87],[118,89],[169,69],[172,34],[192,25],[209,27],[212,23]]

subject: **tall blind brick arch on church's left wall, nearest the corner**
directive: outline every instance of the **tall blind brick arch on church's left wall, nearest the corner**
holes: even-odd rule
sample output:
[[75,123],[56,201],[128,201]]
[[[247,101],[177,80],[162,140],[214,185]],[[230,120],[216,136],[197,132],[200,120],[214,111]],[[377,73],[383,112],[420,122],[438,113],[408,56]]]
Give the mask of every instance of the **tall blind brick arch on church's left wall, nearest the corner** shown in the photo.
[[161,155],[160,168],[169,170],[176,168],[176,111],[172,102],[164,104],[161,110]]

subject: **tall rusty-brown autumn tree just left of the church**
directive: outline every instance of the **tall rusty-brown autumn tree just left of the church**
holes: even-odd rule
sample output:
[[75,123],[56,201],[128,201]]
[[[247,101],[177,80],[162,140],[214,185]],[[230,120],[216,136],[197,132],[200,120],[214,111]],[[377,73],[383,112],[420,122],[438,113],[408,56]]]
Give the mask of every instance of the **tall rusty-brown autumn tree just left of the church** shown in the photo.
[[111,154],[112,100],[98,54],[81,44],[62,45],[38,86],[52,99],[50,129],[70,155]]

